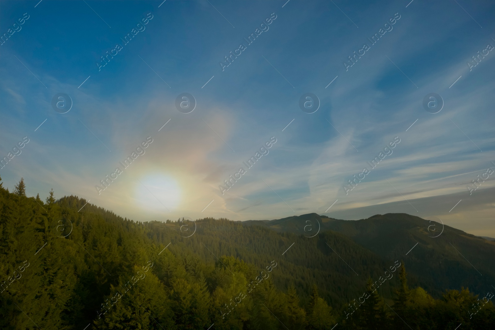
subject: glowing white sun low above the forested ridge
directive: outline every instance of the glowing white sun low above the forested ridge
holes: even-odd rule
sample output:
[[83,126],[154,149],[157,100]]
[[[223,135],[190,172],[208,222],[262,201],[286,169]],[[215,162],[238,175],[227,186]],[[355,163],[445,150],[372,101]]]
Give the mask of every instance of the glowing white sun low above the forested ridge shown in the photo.
[[136,187],[136,202],[153,211],[173,211],[179,206],[181,189],[177,181],[165,174],[149,174]]

